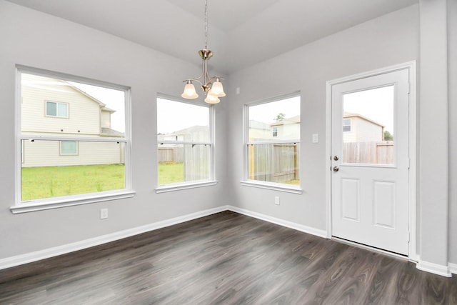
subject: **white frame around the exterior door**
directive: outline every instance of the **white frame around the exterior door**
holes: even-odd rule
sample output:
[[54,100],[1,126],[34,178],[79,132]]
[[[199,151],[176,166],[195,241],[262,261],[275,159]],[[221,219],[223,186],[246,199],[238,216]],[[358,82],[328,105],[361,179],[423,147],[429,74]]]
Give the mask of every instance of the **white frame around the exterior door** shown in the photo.
[[[363,72],[346,76],[341,79],[333,79],[327,81],[326,84],[326,214],[327,214],[327,238],[332,238],[331,228],[331,89],[333,85],[345,83],[347,81],[355,81],[357,79],[364,79],[370,76],[379,74],[386,74],[393,71],[408,69],[409,71],[409,174],[408,174],[408,221],[409,221],[409,255],[410,261],[418,261],[416,249],[416,61],[408,61],[404,64],[388,66],[386,68],[376,69],[372,71]],[[368,247],[369,248],[369,247]]]

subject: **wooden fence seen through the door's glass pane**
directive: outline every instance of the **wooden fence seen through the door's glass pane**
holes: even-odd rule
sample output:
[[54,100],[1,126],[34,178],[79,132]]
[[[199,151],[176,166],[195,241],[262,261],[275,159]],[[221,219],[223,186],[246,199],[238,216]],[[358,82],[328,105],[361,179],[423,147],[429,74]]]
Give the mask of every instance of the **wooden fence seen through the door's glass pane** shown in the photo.
[[393,141],[343,143],[343,163],[393,164]]

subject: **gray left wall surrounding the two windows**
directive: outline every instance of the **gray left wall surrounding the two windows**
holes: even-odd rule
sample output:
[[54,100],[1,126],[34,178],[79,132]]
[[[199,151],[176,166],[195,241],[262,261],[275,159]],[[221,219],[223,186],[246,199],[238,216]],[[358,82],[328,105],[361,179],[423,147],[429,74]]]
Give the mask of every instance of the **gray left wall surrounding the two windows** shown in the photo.
[[[182,80],[199,73],[201,67],[3,0],[0,41],[0,130],[4,131],[0,149],[0,259],[231,204],[224,183],[224,141],[217,141],[218,185],[163,194],[154,191],[156,94],[179,96]],[[16,64],[131,86],[134,198],[11,214]],[[226,133],[225,106],[221,103],[216,107],[218,139],[224,139]],[[109,208],[109,219],[101,221],[99,211],[105,207]]]

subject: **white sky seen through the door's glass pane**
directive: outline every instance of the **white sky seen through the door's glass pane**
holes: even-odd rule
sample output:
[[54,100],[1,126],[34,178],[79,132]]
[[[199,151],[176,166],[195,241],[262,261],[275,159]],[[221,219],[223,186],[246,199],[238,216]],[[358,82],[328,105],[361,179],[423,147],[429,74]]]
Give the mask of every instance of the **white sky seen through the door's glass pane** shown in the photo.
[[344,94],[343,111],[361,114],[385,126],[393,134],[394,86]]

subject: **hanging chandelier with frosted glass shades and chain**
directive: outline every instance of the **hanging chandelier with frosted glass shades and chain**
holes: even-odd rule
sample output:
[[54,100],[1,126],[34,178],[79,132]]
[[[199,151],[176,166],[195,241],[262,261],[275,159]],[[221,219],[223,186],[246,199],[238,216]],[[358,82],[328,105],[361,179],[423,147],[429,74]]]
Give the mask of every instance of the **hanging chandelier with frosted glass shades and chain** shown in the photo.
[[208,104],[217,104],[219,97],[226,96],[224,93],[224,88],[221,83],[221,77],[219,76],[209,76],[208,73],[208,61],[213,56],[213,52],[208,49],[208,0],[205,0],[205,48],[199,51],[201,57],[201,66],[202,71],[199,77],[195,79],[186,79],[183,82],[186,82],[184,86],[184,92],[181,94],[184,99],[196,99],[199,97],[199,94],[195,91],[195,86],[192,81],[196,81],[201,84],[201,89],[206,94],[206,103]]

